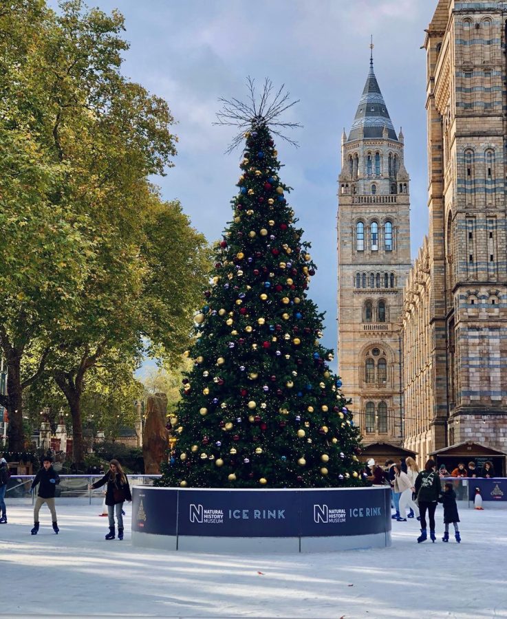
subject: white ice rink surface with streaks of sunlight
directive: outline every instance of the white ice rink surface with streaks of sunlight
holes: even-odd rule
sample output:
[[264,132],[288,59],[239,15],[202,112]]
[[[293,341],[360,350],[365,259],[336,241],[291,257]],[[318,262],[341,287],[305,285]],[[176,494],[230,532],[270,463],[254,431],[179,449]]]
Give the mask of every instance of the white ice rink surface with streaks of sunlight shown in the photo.
[[[7,501],[8,502],[8,501]],[[0,614],[171,618],[507,618],[507,510],[462,509],[462,543],[416,543],[418,522],[393,522],[382,550],[319,554],[197,554],[105,541],[97,505],[8,503],[0,525]],[[452,532],[452,528],[451,528]]]

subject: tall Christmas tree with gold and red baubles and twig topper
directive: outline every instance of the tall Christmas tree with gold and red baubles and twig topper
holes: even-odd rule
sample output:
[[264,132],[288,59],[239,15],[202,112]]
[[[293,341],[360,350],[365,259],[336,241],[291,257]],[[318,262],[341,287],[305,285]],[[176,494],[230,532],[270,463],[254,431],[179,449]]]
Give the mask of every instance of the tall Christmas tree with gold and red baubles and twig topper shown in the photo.
[[332,351],[319,343],[323,314],[307,296],[316,268],[310,243],[296,226],[272,140],[293,126],[278,120],[293,104],[280,90],[268,105],[269,86],[259,109],[252,88],[251,107],[226,101],[219,116],[241,129],[233,142],[245,140],[241,175],[213,283],[195,316],[197,337],[186,353],[194,365],[171,419],[177,440],[161,486],[363,484],[359,431],[330,371]]

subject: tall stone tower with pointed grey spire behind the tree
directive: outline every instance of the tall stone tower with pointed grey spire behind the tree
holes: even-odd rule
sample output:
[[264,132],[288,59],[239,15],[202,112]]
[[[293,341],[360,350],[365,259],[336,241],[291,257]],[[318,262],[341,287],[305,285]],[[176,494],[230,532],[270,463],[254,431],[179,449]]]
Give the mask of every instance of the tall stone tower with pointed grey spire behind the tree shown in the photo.
[[398,321],[411,267],[403,149],[371,56],[338,177],[338,371],[365,442],[402,441]]

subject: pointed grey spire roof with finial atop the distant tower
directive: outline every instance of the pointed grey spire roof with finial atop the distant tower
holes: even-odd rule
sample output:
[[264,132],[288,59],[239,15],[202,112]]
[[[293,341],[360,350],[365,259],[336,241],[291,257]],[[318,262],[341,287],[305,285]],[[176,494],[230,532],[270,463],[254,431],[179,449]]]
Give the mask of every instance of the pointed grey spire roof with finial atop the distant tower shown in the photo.
[[384,97],[380,91],[374,72],[373,37],[371,37],[369,55],[369,72],[366,78],[363,94],[359,100],[356,117],[350,129],[348,141],[362,138],[382,138],[384,127],[387,127],[389,140],[398,141],[396,131],[387,111]]

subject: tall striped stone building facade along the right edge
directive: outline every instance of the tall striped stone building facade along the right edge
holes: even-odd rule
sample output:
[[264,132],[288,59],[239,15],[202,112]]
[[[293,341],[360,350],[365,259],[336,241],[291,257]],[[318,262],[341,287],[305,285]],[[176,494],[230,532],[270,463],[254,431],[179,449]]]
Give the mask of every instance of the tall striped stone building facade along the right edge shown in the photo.
[[427,50],[429,235],[402,310],[404,445],[507,451],[507,3],[440,0]]

